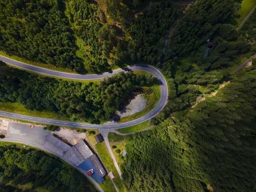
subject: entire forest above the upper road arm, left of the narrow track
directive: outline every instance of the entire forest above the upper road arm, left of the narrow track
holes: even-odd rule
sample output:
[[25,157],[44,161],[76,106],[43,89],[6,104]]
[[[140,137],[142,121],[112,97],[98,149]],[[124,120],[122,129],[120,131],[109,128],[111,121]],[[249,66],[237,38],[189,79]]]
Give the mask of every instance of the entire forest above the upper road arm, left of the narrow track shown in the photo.
[[128,18],[147,2],[1,0],[0,50],[77,73],[109,71],[131,61],[159,65],[162,37],[183,7],[151,3],[145,14]]

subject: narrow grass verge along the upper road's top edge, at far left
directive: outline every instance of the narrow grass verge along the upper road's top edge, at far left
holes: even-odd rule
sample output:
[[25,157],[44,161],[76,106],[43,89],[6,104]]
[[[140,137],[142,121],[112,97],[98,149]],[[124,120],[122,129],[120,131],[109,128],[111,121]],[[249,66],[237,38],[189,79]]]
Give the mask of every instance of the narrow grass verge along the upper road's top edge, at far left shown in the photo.
[[34,65],[34,66],[37,66],[37,67],[43,67],[43,68],[46,68],[46,69],[49,69],[49,70],[61,71],[61,72],[66,72],[66,73],[75,73],[73,70],[70,70],[70,69],[67,69],[67,68],[56,67],[55,65],[51,65],[51,64],[43,64],[43,63],[39,63],[39,62],[29,61],[29,60],[20,58],[18,56],[7,55],[3,51],[0,51],[0,55],[11,58],[11,59],[14,59],[16,61],[26,63],[26,64]]

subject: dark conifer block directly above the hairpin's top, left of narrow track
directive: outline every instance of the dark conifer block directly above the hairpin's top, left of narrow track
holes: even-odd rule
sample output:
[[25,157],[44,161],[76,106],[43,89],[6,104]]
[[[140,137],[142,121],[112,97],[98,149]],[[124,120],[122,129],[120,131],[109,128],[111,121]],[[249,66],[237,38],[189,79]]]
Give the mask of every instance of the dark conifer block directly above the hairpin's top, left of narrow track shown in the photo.
[[147,12],[137,15],[129,24],[127,34],[131,36],[131,60],[159,65],[165,43],[161,37],[166,37],[180,12],[181,9],[171,3],[151,3]]

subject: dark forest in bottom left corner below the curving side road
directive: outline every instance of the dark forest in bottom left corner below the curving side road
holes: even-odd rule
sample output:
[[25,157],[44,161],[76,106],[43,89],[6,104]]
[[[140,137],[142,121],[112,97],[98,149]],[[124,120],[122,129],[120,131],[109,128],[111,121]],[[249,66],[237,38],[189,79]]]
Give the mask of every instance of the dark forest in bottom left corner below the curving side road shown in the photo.
[[79,172],[54,157],[33,148],[0,143],[0,191],[21,192],[18,186],[32,183],[33,191],[96,192]]

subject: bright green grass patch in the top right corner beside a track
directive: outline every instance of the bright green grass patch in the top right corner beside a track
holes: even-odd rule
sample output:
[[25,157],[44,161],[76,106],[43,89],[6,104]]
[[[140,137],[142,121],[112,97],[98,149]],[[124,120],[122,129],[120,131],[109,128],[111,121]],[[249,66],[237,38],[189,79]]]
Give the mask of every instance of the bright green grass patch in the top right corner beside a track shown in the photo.
[[237,24],[240,25],[244,18],[251,12],[253,7],[256,6],[256,0],[243,0],[241,3],[241,8],[239,9],[240,18],[237,18]]

